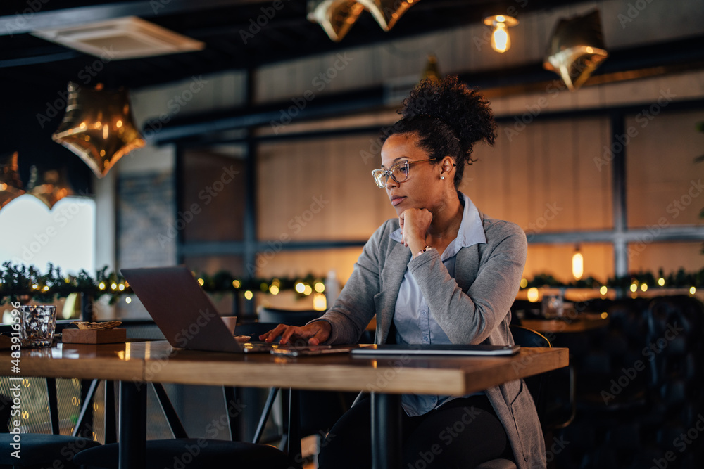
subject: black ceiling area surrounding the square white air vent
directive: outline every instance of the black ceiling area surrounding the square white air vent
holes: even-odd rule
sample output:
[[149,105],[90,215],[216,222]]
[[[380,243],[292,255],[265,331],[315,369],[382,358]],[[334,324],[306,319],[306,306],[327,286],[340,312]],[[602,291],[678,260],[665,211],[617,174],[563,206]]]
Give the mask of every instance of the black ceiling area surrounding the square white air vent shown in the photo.
[[[509,8],[527,13],[569,3],[569,0],[422,0],[409,8],[389,32],[384,32],[372,15],[360,15],[348,35],[336,43],[320,25],[306,18],[308,0],[33,0],[9,5],[3,2],[0,79],[4,84],[63,87],[70,79],[80,79],[79,74],[90,74],[107,86],[138,88],[481,23],[485,15],[505,13]],[[127,60],[116,60],[106,47],[101,60],[30,34],[126,16],[149,20],[201,41],[204,47]]]

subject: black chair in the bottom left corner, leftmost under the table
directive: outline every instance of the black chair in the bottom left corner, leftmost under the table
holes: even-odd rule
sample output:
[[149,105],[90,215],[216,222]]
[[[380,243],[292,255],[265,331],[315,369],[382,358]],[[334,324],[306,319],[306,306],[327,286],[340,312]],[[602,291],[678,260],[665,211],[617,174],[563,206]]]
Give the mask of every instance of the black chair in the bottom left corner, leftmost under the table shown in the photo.
[[[20,383],[20,382],[18,382]],[[95,381],[94,381],[95,383]],[[93,387],[94,388],[94,387]],[[79,467],[75,461],[75,454],[81,449],[100,446],[99,442],[93,439],[78,437],[76,435],[60,435],[58,425],[58,399],[56,396],[56,380],[54,378],[46,378],[46,394],[49,401],[49,423],[51,425],[51,434],[39,433],[22,433],[20,434],[20,458],[12,456],[14,451],[13,446],[14,436],[7,433],[13,428],[11,423],[4,427],[0,433],[0,447],[4,450],[0,451],[0,468],[45,468],[54,467],[57,463],[63,468]],[[8,416],[10,421],[18,420],[16,416],[11,416],[11,412],[6,412],[13,405],[13,398],[7,396],[8,399],[2,399],[0,406],[3,407],[3,418]],[[84,410],[88,404],[92,404],[92,395],[86,399]],[[83,414],[84,412],[82,412]],[[2,422],[4,425],[6,421]],[[75,425],[75,434],[80,429],[82,419]]]

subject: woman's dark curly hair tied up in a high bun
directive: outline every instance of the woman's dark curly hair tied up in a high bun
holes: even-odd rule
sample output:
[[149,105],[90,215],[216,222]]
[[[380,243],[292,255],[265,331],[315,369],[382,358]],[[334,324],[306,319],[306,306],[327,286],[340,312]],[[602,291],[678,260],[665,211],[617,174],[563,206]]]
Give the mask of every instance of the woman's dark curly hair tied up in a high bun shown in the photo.
[[430,158],[455,159],[455,188],[460,186],[465,165],[471,165],[474,143],[494,145],[496,122],[489,101],[478,91],[460,83],[456,75],[425,79],[410,92],[398,111],[403,117],[392,134],[417,134]]

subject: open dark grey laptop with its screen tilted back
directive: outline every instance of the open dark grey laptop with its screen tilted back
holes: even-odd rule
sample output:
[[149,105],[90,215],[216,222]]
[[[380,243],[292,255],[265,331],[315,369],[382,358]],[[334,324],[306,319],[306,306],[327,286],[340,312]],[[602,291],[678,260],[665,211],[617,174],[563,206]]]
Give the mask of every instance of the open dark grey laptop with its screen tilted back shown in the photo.
[[210,352],[270,352],[271,344],[240,344],[186,266],[121,269],[172,347]]

